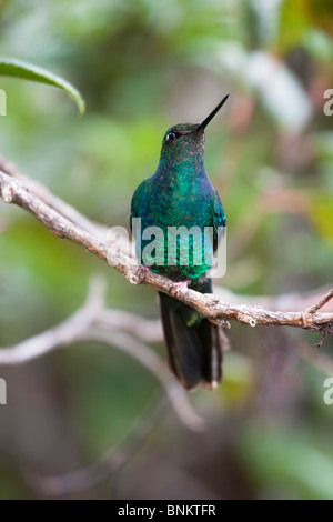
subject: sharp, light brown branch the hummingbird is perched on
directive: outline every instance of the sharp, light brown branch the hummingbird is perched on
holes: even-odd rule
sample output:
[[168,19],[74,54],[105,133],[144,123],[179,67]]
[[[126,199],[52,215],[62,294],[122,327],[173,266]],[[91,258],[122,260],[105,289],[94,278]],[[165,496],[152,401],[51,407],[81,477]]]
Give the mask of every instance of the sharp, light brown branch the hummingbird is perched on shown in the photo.
[[[333,324],[333,312],[320,312],[319,310],[333,297],[333,289],[325,298],[314,307],[299,312],[272,311],[253,304],[233,304],[224,302],[215,294],[201,294],[194,290],[180,289],[173,281],[149,270],[144,270],[137,262],[124,254],[121,250],[110,248],[107,241],[101,239],[103,234],[94,234],[94,227],[91,228],[87,218],[74,209],[62,203],[59,199],[48,194],[43,195],[40,184],[36,190],[33,182],[27,182],[27,178],[0,171],[0,192],[6,203],[14,203],[33,214],[51,232],[60,238],[67,238],[103,261],[112,264],[131,283],[147,284],[160,292],[176,298],[179,301],[194,308],[202,317],[212,322],[225,325],[225,321],[238,321],[250,327],[256,324],[284,325],[303,328],[310,331],[331,333]],[[74,219],[75,218],[75,219]],[[99,229],[101,230],[101,229]],[[105,228],[102,228],[107,231]]]

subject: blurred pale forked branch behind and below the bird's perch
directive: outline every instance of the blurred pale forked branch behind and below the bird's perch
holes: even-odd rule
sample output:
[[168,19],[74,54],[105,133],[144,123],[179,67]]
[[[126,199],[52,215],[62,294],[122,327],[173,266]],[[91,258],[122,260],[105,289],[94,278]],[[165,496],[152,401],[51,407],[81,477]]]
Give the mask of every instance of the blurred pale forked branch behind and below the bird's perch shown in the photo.
[[[75,342],[97,341],[118,348],[130,354],[145,367],[164,389],[173,410],[180,421],[194,431],[203,428],[203,420],[195,413],[188,395],[178,380],[171,374],[164,361],[151,348],[140,341],[130,332],[129,325],[124,330],[124,323],[117,323],[121,315],[115,311],[104,308],[105,282],[94,278],[90,285],[90,292],[83,305],[62,323],[38,335],[22,341],[16,347],[0,348],[0,365],[17,365],[32,361],[58,348],[68,347]],[[137,318],[137,323],[140,318]],[[154,321],[153,321],[154,322]],[[142,335],[141,335],[142,337]]]

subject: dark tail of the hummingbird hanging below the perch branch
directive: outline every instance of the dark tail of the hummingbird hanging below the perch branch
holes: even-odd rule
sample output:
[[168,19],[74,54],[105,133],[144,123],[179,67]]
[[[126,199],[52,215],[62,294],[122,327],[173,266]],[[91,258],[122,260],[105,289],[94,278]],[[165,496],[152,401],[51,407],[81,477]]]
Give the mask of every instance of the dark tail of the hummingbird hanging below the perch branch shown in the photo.
[[[211,280],[192,281],[190,288],[212,292]],[[191,390],[200,382],[214,389],[222,381],[223,350],[229,341],[222,329],[176,299],[160,293],[161,318],[169,365],[181,384]]]

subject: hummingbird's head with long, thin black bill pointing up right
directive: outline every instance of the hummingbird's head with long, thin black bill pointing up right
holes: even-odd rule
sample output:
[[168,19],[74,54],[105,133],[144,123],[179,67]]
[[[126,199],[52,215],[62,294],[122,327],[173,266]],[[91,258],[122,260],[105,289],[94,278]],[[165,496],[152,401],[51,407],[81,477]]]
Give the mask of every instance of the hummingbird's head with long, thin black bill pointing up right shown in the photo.
[[161,160],[175,163],[203,158],[204,129],[226,101],[229,94],[201,123],[178,123],[170,127],[162,141]]

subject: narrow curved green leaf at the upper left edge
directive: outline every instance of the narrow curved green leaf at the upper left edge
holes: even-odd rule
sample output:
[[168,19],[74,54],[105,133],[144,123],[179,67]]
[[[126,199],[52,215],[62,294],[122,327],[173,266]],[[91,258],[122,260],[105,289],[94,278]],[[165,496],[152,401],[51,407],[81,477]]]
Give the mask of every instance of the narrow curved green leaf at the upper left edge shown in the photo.
[[47,83],[48,86],[58,87],[74,100],[79,107],[80,114],[84,112],[84,100],[80,92],[67,80],[63,80],[46,69],[14,58],[0,57],[0,76],[21,78],[23,80],[38,81],[40,83]]

